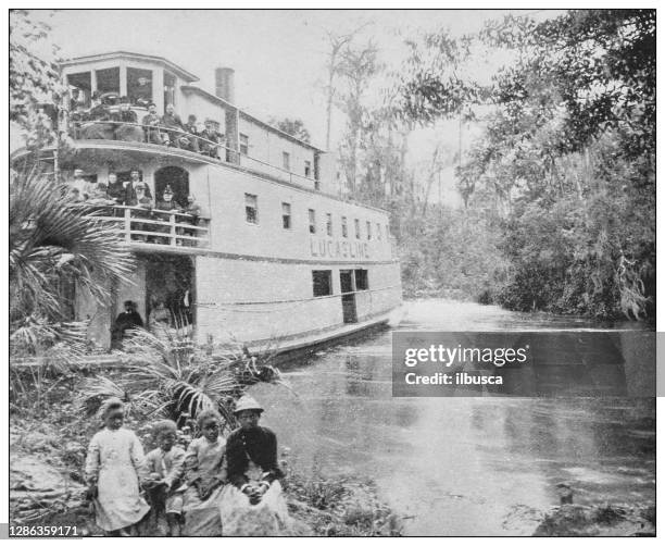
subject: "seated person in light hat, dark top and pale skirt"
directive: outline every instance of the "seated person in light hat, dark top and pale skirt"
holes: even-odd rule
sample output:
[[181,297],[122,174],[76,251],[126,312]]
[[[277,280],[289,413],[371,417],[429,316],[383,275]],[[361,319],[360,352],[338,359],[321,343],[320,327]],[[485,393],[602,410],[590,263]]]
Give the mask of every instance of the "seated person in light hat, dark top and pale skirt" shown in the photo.
[[227,476],[221,502],[224,535],[274,536],[290,534],[292,525],[279,479],[277,437],[259,425],[261,405],[251,396],[236,404],[240,427],[226,438]]

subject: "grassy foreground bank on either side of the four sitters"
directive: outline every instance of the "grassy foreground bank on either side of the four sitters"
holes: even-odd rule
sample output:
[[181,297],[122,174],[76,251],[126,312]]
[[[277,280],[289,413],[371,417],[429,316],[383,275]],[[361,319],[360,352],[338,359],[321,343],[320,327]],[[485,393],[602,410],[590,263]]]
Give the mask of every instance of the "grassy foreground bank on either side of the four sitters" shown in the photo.
[[[99,430],[77,390],[83,377],[41,377],[40,396],[13,397],[10,415],[10,522],[16,525],[76,525],[100,535],[85,499],[84,464],[91,436]],[[154,421],[154,420],[152,420]],[[129,412],[125,426],[146,451],[152,449],[151,420]],[[291,516],[306,534],[319,536],[394,536],[399,520],[382,504],[374,484],[354,476],[305,476],[289,462],[284,487]],[[147,530],[160,534],[160,530]]]

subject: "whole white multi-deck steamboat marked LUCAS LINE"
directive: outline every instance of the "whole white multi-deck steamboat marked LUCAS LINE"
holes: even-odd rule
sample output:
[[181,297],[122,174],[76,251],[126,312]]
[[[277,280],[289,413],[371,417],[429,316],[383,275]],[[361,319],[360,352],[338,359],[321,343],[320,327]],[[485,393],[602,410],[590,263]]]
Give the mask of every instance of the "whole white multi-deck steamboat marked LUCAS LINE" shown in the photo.
[[[72,318],[88,320],[99,345],[111,347],[126,300],[149,328],[186,322],[199,344],[278,351],[380,325],[400,307],[387,212],[338,197],[330,153],[239,109],[231,69],[216,69],[214,94],[147,54],[61,69],[73,152],[58,170],[109,197],[122,185],[104,218],[137,258],[109,307],[72,288]],[[124,199],[142,184],[148,210]],[[160,209],[165,194],[179,208]]]

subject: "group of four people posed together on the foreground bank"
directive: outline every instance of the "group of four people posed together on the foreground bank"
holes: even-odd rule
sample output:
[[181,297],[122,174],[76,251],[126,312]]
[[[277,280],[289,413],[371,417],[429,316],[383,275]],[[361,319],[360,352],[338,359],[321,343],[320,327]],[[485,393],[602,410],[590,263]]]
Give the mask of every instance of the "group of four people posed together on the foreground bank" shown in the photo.
[[225,439],[219,413],[202,411],[200,436],[187,450],[177,444],[176,423],[159,421],[158,447],[145,456],[136,434],[123,427],[123,402],[108,399],[100,410],[103,429],[90,440],[86,459],[97,524],[109,535],[133,536],[139,524],[156,525],[165,513],[171,536],[221,536],[223,530],[243,534],[242,522],[260,517],[263,533],[281,534],[288,524],[277,481],[283,473],[274,433],[259,426],[262,412],[253,398],[240,398],[235,410],[240,427]]

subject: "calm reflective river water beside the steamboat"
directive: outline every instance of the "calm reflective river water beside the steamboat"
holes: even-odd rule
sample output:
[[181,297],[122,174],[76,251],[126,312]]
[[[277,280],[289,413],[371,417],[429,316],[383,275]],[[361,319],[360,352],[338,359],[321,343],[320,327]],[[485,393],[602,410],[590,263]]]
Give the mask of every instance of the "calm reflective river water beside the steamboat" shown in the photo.
[[[444,300],[405,310],[392,332],[603,330]],[[652,399],[393,398],[390,330],[319,351],[284,376],[292,390],[251,394],[291,463],[372,479],[406,535],[530,534],[538,513],[559,504],[560,482],[575,502],[655,502]]]

